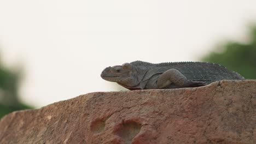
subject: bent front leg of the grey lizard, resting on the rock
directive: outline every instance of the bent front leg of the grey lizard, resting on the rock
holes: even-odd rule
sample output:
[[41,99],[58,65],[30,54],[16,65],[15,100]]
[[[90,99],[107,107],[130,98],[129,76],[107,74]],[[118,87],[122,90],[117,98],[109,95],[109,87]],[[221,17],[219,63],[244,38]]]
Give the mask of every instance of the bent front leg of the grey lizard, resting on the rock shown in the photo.
[[199,87],[204,86],[205,82],[190,81],[177,69],[169,69],[162,73],[156,81],[156,87],[161,89],[174,84],[178,87]]

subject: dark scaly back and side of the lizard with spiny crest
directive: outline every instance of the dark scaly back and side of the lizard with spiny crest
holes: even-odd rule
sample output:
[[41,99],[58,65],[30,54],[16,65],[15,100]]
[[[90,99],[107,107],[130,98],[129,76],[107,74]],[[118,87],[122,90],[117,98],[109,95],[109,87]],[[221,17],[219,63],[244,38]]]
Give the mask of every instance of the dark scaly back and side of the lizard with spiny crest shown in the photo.
[[139,69],[147,69],[148,72],[143,80],[150,79],[153,75],[164,73],[168,69],[177,69],[188,80],[205,81],[207,84],[219,80],[242,80],[245,79],[235,71],[230,71],[219,64],[210,62],[171,62],[153,64],[142,61],[135,61],[131,64]]

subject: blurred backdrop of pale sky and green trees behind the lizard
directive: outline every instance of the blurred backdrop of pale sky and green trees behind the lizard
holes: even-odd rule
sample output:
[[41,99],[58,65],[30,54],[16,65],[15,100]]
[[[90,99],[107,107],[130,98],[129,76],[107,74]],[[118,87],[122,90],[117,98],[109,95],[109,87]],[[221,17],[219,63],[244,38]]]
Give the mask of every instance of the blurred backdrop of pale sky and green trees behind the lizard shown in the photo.
[[256,1],[0,1],[0,118],[120,87],[112,65],[208,61],[256,79]]

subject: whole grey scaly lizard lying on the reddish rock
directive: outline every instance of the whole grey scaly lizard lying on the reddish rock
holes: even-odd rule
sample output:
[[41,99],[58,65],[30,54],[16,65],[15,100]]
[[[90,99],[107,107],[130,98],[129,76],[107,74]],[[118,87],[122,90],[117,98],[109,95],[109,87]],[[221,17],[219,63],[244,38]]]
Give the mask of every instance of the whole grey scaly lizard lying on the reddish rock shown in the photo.
[[142,61],[107,67],[101,77],[130,90],[200,87],[214,81],[245,79],[235,71],[210,62],[154,64]]

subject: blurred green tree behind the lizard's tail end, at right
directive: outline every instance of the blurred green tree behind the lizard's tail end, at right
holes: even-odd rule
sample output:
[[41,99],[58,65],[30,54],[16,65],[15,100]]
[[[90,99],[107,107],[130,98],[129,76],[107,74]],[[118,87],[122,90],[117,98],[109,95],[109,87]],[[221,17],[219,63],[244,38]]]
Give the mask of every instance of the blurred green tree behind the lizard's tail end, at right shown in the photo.
[[256,25],[249,30],[247,44],[228,41],[218,47],[222,52],[212,52],[203,57],[202,61],[218,63],[236,71],[246,79],[256,79]]

